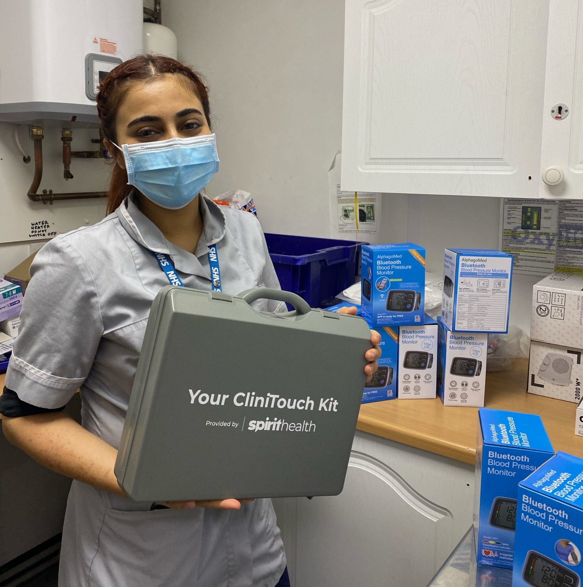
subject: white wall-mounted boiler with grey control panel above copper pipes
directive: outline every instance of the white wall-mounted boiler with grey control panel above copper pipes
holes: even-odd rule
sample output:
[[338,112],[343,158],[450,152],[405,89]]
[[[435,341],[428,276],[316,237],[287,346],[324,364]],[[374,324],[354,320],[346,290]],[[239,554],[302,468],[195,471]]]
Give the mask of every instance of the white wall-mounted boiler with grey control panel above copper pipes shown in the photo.
[[100,79],[142,50],[142,0],[18,0],[0,18],[0,121],[97,122]]

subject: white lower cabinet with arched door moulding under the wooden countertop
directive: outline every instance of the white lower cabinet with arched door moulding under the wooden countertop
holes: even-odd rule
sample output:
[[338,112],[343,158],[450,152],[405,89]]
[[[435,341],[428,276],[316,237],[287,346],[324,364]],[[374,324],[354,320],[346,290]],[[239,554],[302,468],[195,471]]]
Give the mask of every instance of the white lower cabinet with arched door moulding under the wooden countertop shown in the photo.
[[273,500],[294,587],[426,587],[472,524],[474,468],[357,432],[343,492]]

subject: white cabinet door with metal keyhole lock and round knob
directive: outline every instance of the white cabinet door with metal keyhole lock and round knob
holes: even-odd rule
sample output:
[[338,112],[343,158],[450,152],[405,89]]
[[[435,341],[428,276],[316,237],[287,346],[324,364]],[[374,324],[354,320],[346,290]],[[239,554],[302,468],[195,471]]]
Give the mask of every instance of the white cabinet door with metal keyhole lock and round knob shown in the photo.
[[[543,174],[548,167],[558,167],[563,172],[564,179],[557,185],[544,183]],[[583,198],[582,0],[551,0],[538,180],[543,197]]]

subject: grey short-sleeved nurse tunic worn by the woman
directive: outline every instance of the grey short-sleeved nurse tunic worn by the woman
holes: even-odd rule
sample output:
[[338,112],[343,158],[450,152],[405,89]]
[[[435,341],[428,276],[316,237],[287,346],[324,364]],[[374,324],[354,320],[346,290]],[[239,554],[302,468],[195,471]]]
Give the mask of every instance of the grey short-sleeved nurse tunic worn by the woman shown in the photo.
[[[207,252],[216,244],[223,291],[279,288],[257,219],[199,200],[203,232],[194,255],[168,242],[131,196],[98,224],[46,244],[30,270],[8,389],[55,408],[80,387],[83,427],[117,448],[152,299],[168,284],[150,251],[170,255],[185,286],[211,289]],[[224,342],[208,340],[218,350]],[[245,349],[224,358],[226,366],[245,360]],[[59,585],[273,587],[282,575],[270,500],[238,511],[150,506],[73,481]]]

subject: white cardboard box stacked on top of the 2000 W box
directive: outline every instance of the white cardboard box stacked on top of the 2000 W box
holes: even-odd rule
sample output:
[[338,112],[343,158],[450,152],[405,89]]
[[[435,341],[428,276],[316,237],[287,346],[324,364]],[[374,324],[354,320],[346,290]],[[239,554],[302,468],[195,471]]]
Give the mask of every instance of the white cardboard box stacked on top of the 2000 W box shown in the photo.
[[530,338],[583,349],[583,274],[557,272],[533,286]]

